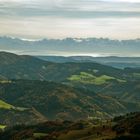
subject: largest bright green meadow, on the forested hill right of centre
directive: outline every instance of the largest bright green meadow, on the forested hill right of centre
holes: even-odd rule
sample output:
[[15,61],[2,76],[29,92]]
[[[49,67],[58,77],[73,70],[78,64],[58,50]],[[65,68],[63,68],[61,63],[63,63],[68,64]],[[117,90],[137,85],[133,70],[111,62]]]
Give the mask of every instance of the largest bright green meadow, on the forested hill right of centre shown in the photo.
[[92,74],[81,72],[79,75],[72,75],[68,78],[70,81],[77,81],[85,84],[95,84],[95,85],[102,85],[106,84],[109,80],[116,80],[118,82],[126,82],[125,80],[117,79],[115,77],[111,77],[108,75],[101,75],[96,77]]

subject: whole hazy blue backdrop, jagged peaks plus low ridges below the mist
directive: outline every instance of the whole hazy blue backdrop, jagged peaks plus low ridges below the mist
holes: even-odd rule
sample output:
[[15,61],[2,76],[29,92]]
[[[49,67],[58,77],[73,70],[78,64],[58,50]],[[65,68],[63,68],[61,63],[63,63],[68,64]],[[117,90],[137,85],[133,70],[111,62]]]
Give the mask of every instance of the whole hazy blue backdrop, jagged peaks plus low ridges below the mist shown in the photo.
[[140,67],[140,39],[119,41],[104,38],[66,38],[29,41],[0,37],[0,51],[33,55],[58,63],[97,62],[117,68]]

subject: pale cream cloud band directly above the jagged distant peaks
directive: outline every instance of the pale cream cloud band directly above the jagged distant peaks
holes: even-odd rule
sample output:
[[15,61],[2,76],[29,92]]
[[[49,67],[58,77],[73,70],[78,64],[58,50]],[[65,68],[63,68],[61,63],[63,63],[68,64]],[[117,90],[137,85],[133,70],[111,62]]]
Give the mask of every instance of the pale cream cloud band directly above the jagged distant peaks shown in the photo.
[[[134,26],[135,23],[135,26]],[[0,19],[0,35],[23,38],[109,37],[138,38],[140,19],[123,18],[24,18]]]

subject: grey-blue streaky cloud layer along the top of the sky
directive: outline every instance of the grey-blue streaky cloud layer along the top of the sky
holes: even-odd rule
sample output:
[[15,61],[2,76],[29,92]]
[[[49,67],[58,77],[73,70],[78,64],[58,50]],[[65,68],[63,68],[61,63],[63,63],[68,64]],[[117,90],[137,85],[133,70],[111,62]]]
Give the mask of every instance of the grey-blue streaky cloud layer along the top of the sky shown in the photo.
[[[102,17],[140,17],[140,4],[94,0],[13,0],[0,2],[0,16],[22,17],[66,17],[66,18],[102,18]],[[18,2],[17,2],[18,1]]]

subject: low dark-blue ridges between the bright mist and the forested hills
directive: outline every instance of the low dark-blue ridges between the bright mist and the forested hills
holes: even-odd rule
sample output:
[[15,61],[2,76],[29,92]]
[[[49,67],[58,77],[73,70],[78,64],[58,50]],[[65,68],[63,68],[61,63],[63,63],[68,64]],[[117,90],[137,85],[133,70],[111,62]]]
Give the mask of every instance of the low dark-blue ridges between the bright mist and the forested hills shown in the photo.
[[97,62],[116,68],[137,68],[140,67],[140,57],[91,57],[91,56],[37,56],[38,58],[56,62],[56,63],[66,63],[66,62]]

